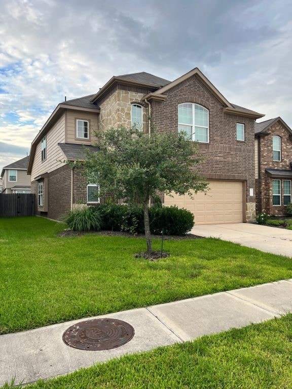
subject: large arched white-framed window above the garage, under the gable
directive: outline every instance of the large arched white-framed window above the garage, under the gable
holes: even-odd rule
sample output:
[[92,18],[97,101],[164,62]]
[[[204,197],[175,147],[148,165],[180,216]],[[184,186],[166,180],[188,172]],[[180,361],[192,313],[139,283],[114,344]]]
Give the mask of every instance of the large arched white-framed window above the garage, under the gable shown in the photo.
[[186,132],[187,138],[197,142],[209,142],[209,111],[201,105],[178,105],[178,132]]

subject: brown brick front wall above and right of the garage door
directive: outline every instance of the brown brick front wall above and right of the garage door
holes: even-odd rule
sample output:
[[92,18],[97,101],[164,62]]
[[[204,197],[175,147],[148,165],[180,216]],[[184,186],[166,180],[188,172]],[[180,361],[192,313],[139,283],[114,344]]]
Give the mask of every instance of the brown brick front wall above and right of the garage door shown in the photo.
[[[244,116],[224,113],[224,105],[203,84],[197,75],[166,91],[167,99],[152,102],[152,116],[157,131],[177,132],[178,104],[193,102],[209,110],[209,143],[199,143],[199,153],[204,158],[198,172],[207,179],[240,180],[246,183],[247,218],[253,218],[255,196],[254,178],[254,120]],[[245,126],[245,140],[236,140],[236,123]],[[251,217],[250,217],[251,216]]]

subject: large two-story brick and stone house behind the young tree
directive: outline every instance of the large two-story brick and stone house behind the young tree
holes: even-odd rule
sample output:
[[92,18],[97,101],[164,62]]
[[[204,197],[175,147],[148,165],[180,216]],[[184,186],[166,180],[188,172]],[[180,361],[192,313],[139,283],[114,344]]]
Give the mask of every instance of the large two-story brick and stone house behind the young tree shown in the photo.
[[231,104],[195,68],[170,82],[140,72],[114,76],[94,95],[60,103],[31,144],[28,174],[38,197],[36,212],[58,219],[80,203],[96,204],[96,187],[66,161],[84,159],[95,131],[136,125],[150,133],[186,131],[197,141],[204,162],[198,171],[207,195],[163,196],[165,205],[191,210],[195,222],[250,221],[255,216],[254,121],[262,114]]

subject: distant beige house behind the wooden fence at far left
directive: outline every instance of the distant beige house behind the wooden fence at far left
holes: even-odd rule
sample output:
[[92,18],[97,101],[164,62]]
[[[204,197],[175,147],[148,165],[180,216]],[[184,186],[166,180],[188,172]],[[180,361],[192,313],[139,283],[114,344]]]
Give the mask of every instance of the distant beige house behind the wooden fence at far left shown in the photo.
[[3,193],[30,193],[30,176],[26,169],[28,157],[4,166],[1,172],[3,180]]

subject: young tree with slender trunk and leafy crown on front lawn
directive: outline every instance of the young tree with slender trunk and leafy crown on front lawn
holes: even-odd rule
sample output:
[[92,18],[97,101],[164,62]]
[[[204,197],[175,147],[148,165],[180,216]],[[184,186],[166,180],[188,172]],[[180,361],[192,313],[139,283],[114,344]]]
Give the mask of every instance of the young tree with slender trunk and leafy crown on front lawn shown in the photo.
[[207,183],[194,167],[201,163],[197,144],[183,133],[151,136],[134,128],[109,129],[98,135],[99,151],[87,153],[84,162],[88,182],[98,183],[100,196],[141,202],[144,213],[147,253],[151,254],[149,203],[157,191],[179,195],[204,191]]

